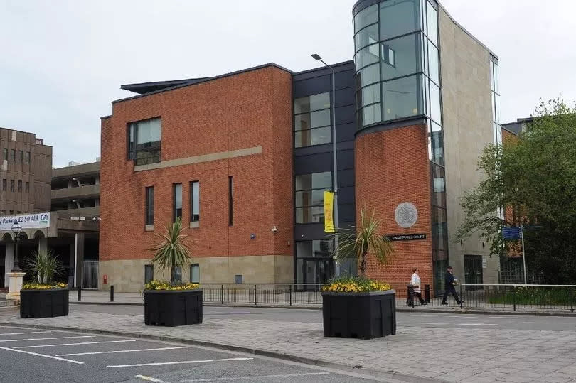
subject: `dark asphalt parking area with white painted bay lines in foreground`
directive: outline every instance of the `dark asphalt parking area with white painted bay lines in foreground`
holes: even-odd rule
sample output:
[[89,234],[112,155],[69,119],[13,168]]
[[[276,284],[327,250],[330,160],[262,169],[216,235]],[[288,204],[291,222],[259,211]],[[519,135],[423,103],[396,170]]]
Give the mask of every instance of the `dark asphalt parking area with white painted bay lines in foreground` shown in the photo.
[[1,382],[375,382],[361,376],[177,343],[0,327]]

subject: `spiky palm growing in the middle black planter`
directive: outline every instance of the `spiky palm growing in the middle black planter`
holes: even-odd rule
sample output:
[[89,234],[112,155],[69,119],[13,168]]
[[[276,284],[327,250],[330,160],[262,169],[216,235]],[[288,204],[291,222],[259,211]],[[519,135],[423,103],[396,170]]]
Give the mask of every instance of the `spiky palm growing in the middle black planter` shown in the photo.
[[174,275],[176,267],[183,267],[190,261],[191,251],[184,241],[186,234],[183,234],[182,220],[176,218],[176,222],[166,226],[166,232],[156,234],[159,242],[152,247],[154,258],[152,263],[157,264],[163,271],[169,269]]

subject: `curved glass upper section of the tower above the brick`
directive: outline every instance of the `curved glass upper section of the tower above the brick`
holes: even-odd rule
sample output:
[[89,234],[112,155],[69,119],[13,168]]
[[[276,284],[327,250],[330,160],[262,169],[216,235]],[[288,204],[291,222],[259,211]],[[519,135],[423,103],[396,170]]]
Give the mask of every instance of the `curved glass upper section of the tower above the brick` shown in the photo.
[[353,22],[358,129],[423,115],[442,126],[436,4],[380,1]]

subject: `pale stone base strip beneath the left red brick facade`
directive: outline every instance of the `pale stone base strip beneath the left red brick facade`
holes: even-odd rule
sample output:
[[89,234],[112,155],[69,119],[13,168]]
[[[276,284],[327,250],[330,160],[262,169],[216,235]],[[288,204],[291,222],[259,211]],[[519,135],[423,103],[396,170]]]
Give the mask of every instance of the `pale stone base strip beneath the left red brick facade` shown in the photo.
[[[233,284],[236,275],[242,275],[245,284],[289,284],[294,282],[294,257],[292,255],[267,255],[244,257],[196,257],[191,263],[200,265],[202,284]],[[101,261],[98,288],[109,290],[114,285],[117,292],[138,292],[144,286],[144,266],[149,259],[122,259]],[[104,276],[107,284],[102,284]],[[155,266],[154,279],[170,279]],[[190,281],[190,269],[182,270],[182,281]]]

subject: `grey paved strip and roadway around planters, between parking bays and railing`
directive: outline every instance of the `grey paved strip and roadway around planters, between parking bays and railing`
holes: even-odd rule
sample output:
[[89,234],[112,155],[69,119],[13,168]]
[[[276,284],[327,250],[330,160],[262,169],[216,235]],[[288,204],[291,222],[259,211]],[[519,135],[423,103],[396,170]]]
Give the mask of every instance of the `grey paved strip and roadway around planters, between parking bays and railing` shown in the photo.
[[324,338],[319,310],[206,307],[203,324],[177,328],[145,326],[142,306],[71,305],[68,317],[43,319],[0,310],[9,325],[217,347],[388,381],[576,382],[575,318],[430,312],[397,313],[397,322],[396,335],[357,340]]

